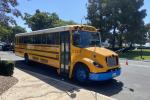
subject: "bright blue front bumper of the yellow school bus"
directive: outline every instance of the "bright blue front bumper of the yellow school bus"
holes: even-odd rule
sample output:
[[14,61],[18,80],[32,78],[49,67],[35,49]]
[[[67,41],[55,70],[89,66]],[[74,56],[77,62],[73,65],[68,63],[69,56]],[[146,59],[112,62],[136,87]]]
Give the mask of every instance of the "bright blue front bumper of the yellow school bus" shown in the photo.
[[104,73],[90,73],[89,80],[92,81],[105,81],[109,79],[113,79],[121,74],[121,69],[116,69],[114,71],[108,71]]

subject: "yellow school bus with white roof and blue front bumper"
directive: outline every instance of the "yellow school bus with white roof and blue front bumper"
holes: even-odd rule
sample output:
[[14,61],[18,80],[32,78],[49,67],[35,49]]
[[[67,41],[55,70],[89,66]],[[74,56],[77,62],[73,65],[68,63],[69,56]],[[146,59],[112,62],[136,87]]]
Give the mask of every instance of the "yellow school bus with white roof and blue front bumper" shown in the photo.
[[15,54],[49,65],[79,82],[110,80],[121,73],[118,54],[101,46],[100,32],[88,25],[68,25],[19,33]]

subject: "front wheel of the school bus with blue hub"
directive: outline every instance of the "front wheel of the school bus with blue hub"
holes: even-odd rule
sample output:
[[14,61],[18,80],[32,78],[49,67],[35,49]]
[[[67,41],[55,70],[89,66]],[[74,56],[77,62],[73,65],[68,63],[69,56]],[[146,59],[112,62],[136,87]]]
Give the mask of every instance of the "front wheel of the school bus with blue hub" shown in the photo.
[[75,68],[75,72],[74,72],[74,78],[80,84],[88,83],[89,82],[89,70],[88,70],[88,68],[83,64],[77,65]]

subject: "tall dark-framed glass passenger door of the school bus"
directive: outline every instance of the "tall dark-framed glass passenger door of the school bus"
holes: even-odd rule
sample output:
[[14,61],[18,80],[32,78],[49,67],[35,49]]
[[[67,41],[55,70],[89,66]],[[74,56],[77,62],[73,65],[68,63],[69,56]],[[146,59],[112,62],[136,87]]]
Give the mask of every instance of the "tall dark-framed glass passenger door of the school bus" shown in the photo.
[[61,44],[60,74],[63,76],[68,76],[69,63],[70,63],[70,34],[69,32],[60,33],[60,44]]

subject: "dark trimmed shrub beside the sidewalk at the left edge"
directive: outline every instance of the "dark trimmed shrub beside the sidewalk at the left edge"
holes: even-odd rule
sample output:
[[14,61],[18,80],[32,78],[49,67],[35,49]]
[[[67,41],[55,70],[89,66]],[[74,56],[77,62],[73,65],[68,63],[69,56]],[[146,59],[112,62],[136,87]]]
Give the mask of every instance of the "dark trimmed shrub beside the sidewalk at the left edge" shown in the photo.
[[0,75],[12,76],[14,64],[12,62],[0,61]]

